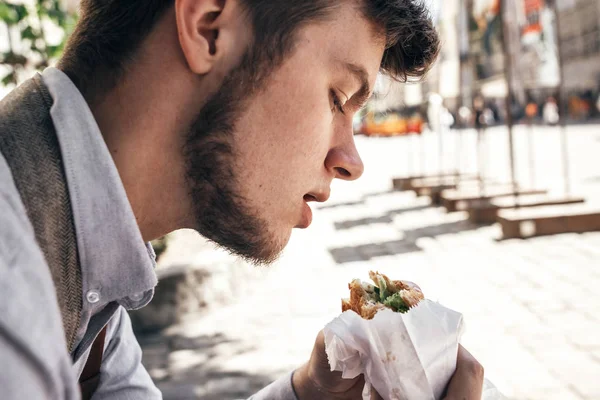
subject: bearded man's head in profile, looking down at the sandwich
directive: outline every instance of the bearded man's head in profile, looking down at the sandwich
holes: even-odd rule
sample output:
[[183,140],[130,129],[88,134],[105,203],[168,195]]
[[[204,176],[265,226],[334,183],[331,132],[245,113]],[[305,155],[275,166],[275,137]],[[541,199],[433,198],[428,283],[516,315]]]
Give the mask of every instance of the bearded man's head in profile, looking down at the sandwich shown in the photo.
[[[83,0],[81,14],[60,67],[92,110],[110,113],[125,96],[115,93],[138,89],[143,106],[133,110],[160,110],[150,127],[132,111],[126,125],[136,132],[121,123],[116,136],[156,139],[165,148],[157,163],[182,177],[163,196],[179,207],[155,225],[195,228],[257,262],[310,224],[307,202],[326,200],[333,179],[361,175],[352,116],[378,71],[420,77],[438,51],[425,8],[411,0]],[[111,136],[113,125],[99,124]],[[130,146],[129,157],[156,155],[144,155],[148,146]],[[154,171],[156,180],[168,172]],[[130,199],[152,199],[134,191]]]

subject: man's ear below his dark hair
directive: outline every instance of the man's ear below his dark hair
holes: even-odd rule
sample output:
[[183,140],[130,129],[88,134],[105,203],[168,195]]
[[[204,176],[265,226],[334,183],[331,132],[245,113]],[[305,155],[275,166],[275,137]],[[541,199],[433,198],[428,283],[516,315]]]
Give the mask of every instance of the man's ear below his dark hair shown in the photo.
[[192,72],[208,73],[221,57],[219,16],[227,0],[176,0],[179,43]]

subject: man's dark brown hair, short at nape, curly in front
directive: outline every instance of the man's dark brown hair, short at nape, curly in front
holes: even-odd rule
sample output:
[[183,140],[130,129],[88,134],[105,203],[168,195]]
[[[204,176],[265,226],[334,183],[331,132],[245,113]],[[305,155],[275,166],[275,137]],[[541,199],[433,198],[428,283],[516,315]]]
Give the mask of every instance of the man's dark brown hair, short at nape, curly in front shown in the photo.
[[[380,28],[386,39],[381,71],[392,78],[422,77],[439,51],[437,32],[421,0],[239,1],[253,23],[255,71],[260,75],[270,73],[289,54],[301,26],[326,19],[341,1],[356,1],[367,20]],[[173,4],[174,0],[82,0],[79,22],[59,68],[88,101],[101,96],[118,83],[141,42]]]

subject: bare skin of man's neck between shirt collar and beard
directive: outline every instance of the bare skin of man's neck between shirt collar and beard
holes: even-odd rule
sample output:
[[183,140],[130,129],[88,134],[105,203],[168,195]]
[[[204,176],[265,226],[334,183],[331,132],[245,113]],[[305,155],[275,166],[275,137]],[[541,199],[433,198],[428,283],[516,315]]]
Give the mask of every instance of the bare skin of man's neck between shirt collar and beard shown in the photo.
[[[153,53],[174,47],[153,45]],[[186,227],[192,209],[182,146],[195,117],[191,111],[200,107],[189,94],[198,83],[176,68],[169,79],[157,79],[165,76],[165,57],[178,56],[160,53],[136,59],[135,71],[90,105],[145,241]]]

